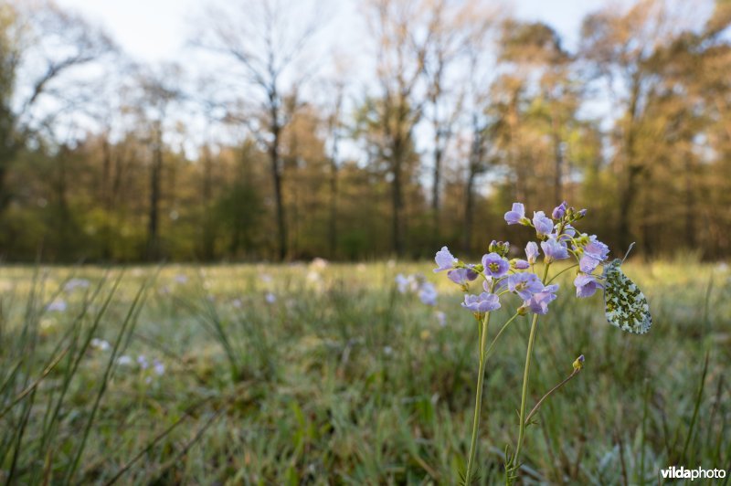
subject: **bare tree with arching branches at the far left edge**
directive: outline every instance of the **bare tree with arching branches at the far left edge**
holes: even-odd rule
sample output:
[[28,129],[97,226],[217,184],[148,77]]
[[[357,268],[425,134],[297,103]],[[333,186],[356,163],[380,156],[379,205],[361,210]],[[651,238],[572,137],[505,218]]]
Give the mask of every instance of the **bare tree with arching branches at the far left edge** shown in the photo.
[[0,213],[13,197],[7,175],[26,138],[83,96],[69,75],[113,50],[100,29],[49,0],[0,4]]

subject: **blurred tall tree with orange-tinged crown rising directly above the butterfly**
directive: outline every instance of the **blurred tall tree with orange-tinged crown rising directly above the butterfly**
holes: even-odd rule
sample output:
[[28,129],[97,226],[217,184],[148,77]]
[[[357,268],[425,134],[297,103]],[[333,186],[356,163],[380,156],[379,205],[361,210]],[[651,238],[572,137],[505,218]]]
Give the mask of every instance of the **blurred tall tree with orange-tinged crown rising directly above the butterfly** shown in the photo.
[[[674,8],[671,9],[671,6]],[[685,10],[683,10],[685,8]],[[662,76],[655,54],[688,28],[689,5],[662,0],[639,0],[629,9],[607,7],[584,19],[580,54],[605,79],[616,111],[617,147],[614,164],[620,174],[618,239],[628,248],[632,237],[631,211],[649,165],[640,156],[642,126],[658,94]],[[654,141],[655,143],[657,141]],[[645,143],[653,143],[646,139]]]

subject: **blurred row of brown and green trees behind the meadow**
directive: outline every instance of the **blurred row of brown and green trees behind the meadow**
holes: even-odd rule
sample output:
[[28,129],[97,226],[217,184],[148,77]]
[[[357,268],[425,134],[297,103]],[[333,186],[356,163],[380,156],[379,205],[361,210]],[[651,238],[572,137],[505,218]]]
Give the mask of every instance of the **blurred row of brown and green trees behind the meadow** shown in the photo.
[[474,254],[564,199],[617,253],[729,255],[731,2],[608,4],[569,49],[496,4],[367,0],[350,51],[318,5],[209,5],[143,66],[0,3],[0,258]]

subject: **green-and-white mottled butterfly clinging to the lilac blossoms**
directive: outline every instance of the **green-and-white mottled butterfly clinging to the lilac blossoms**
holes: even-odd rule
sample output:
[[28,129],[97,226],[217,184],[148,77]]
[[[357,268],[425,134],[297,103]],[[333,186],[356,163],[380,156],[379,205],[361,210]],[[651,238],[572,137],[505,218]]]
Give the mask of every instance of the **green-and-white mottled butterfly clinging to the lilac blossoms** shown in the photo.
[[[634,243],[630,245],[632,249]],[[630,249],[627,254],[630,254]],[[650,304],[640,288],[621,269],[627,259],[614,259],[604,265],[604,313],[610,324],[629,333],[644,334],[650,331],[652,315]]]

